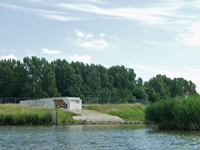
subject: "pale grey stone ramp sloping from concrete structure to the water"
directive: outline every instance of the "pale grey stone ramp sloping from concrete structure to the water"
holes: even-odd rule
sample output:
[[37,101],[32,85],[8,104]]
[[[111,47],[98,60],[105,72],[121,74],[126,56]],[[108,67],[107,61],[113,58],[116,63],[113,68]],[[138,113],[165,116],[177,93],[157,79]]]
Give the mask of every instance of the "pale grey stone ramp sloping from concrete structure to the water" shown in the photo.
[[105,122],[124,123],[124,120],[117,116],[111,116],[93,110],[73,110],[71,112],[80,115],[80,116],[73,116],[74,120],[86,120],[87,122],[93,122],[93,123],[105,123]]

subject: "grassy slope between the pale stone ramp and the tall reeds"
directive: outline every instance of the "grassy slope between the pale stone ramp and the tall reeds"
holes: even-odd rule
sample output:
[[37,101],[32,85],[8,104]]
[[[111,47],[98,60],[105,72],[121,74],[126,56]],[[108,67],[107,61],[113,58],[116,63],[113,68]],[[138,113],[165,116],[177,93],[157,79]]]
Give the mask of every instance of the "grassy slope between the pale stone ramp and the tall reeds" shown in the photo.
[[83,109],[119,116],[127,121],[144,121],[145,119],[145,106],[141,104],[88,104],[84,105]]

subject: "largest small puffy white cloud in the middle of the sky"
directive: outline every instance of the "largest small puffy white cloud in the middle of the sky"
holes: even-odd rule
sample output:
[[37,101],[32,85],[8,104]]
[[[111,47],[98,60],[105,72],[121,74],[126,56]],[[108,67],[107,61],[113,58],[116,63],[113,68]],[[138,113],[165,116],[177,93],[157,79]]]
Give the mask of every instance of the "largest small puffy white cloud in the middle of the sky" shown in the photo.
[[83,46],[83,47],[95,48],[95,49],[104,49],[109,46],[109,44],[106,41],[104,41],[103,39],[93,40],[90,42],[83,42],[83,43],[78,42],[76,44]]

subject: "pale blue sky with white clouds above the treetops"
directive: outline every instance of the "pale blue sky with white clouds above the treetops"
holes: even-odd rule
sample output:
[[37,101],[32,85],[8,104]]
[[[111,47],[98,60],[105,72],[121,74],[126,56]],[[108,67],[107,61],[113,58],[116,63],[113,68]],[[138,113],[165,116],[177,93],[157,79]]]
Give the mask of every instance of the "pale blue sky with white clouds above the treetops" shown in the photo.
[[0,0],[0,59],[31,56],[183,77],[200,93],[200,0]]

